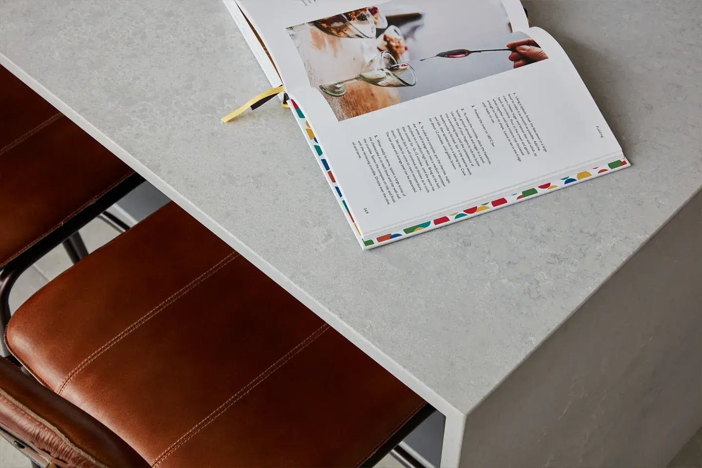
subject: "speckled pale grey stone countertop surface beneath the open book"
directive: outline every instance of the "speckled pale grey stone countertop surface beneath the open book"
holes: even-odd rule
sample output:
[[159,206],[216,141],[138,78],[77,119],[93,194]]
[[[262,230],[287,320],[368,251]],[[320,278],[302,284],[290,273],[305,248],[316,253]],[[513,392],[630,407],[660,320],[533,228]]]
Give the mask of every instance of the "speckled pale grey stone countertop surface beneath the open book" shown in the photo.
[[633,167],[369,252],[289,111],[271,104],[220,123],[268,84],[221,1],[2,1],[0,52],[154,185],[458,417],[702,185],[702,2],[525,5],[562,41]]

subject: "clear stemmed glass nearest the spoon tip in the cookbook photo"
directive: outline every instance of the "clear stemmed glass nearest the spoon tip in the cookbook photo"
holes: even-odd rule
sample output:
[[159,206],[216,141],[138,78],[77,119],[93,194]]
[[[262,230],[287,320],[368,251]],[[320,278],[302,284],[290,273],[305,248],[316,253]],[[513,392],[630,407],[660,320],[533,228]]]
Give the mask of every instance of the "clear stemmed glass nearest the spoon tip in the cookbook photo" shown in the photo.
[[354,81],[364,81],[381,88],[401,88],[417,84],[417,75],[409,63],[398,63],[388,51],[380,52],[373,57],[361,73],[353,78],[320,85],[319,88],[331,96],[343,96],[348,91],[347,84]]

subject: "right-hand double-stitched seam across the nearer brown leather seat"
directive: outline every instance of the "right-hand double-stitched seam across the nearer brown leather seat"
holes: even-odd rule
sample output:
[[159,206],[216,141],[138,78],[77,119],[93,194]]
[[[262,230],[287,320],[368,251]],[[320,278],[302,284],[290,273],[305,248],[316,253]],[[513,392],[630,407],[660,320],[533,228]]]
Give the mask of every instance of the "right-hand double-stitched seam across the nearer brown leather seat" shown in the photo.
[[289,352],[286,352],[286,354],[284,354],[280,359],[278,359],[277,361],[272,363],[266,370],[264,370],[262,373],[260,373],[258,375],[258,377],[254,378],[253,380],[251,380],[251,382],[249,382],[244,387],[242,387],[239,390],[239,392],[230,396],[230,398],[227,399],[227,401],[225,401],[220,406],[218,406],[218,408],[213,410],[212,413],[210,413],[209,415],[207,415],[207,417],[204,418],[204,420],[201,420],[200,422],[195,424],[192,427],[192,429],[190,429],[188,432],[186,432],[185,434],[180,436],[180,438],[176,442],[172,443],[170,447],[166,448],[166,450],[164,450],[161,453],[161,455],[156,457],[154,462],[152,462],[151,466],[154,468],[158,467],[159,464],[161,464],[161,462],[166,460],[167,457],[169,457],[170,455],[173,454],[173,452],[178,450],[178,448],[180,446],[183,446],[184,443],[186,443],[187,441],[192,439],[192,437],[196,436],[208,424],[213,422],[213,420],[216,420],[218,417],[220,417],[220,415],[222,415],[226,410],[228,410],[232,405],[234,405],[234,403],[237,403],[237,401],[244,398],[244,396],[246,396],[246,394],[249,394],[249,392],[251,392],[251,390],[256,388],[256,386],[258,384],[260,384],[261,382],[266,380],[276,370],[278,370],[279,368],[284,366],[285,363],[287,363],[288,361],[293,359],[293,357],[295,357],[299,352],[301,352],[303,349],[305,349],[306,347],[311,345],[312,342],[314,342],[314,340],[317,340],[317,338],[322,336],[322,334],[326,330],[329,330],[329,325],[327,325],[326,323],[324,325],[320,326],[319,328],[317,328],[317,330],[314,330],[314,332],[312,332],[309,336],[307,336],[305,338],[305,340],[298,343],[298,345],[296,347],[291,349]]

